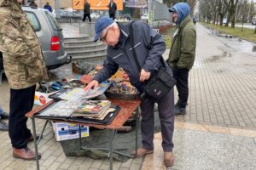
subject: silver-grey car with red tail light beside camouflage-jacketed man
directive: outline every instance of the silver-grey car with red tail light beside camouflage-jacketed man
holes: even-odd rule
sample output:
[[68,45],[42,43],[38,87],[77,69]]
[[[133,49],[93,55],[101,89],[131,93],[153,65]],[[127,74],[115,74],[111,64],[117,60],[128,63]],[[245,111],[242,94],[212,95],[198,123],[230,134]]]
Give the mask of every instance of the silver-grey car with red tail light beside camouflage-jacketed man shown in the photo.
[[[47,68],[55,69],[68,63],[64,49],[62,29],[55,17],[44,8],[22,7],[31,21],[38,36]],[[0,69],[3,68],[3,56],[0,52]]]

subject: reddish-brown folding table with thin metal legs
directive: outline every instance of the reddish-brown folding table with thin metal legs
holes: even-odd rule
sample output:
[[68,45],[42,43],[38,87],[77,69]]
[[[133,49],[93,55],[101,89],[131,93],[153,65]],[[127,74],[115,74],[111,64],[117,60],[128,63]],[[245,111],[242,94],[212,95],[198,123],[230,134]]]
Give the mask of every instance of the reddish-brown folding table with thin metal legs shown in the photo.
[[[70,120],[70,121],[61,121],[61,122],[68,122],[68,123],[75,123],[75,124],[79,124],[79,139],[80,139],[80,147],[81,149],[84,150],[92,150],[92,149],[96,149],[96,150],[108,150],[109,151],[109,167],[112,170],[113,169],[113,152],[114,153],[118,153],[121,155],[125,155],[124,153],[121,153],[117,150],[113,149],[113,145],[114,145],[114,137],[115,134],[117,132],[117,129],[119,127],[122,127],[124,125],[124,123],[128,120],[128,118],[130,116],[132,116],[132,113],[134,111],[136,111],[136,141],[135,141],[135,150],[137,150],[137,134],[138,134],[138,106],[140,105],[140,100],[139,99],[134,99],[134,100],[120,100],[120,99],[109,99],[111,101],[111,103],[113,105],[119,105],[119,112],[116,114],[116,116],[113,118],[113,121],[110,122],[110,124],[108,125],[102,125],[102,124],[93,124],[93,123],[83,123],[82,121],[75,121],[75,120]],[[40,106],[36,109],[33,109],[32,111],[26,113],[26,117],[29,117],[32,119],[32,133],[33,133],[33,137],[36,137],[36,123],[35,123],[35,118],[40,118],[40,119],[45,119],[47,120],[47,122],[49,122],[49,120],[51,120],[50,117],[44,118],[44,116],[40,116],[37,117],[36,114],[38,113],[38,111],[42,111],[44,108],[48,107],[49,105],[51,105],[52,103],[54,103],[54,101],[50,101],[49,103]],[[51,121],[55,121],[54,117],[52,117]],[[47,125],[47,122],[44,124],[43,127],[43,131],[41,133],[41,136],[44,133],[44,129]],[[109,130],[109,149],[106,148],[86,148],[84,146],[82,146],[82,141],[81,141],[81,125],[83,126],[88,126],[88,127],[97,127],[97,128],[106,128]],[[40,139],[40,138],[39,138]],[[38,140],[39,142],[39,140]],[[38,142],[36,140],[34,140],[34,145],[35,145],[35,153],[36,155],[38,155]],[[137,153],[135,153],[135,156],[137,155]],[[43,155],[44,156],[44,155]],[[125,155],[128,156],[128,155]],[[129,156],[129,157],[133,157],[133,156]],[[37,161],[37,169],[39,170],[39,160],[38,160],[38,156],[36,157],[36,161]]]

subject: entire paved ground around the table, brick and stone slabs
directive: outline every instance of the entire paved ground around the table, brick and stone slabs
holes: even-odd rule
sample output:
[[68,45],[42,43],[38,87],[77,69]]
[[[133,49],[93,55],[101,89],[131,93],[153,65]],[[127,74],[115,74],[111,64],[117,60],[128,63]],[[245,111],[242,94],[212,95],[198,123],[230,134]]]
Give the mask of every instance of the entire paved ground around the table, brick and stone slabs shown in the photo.
[[[196,27],[198,39],[195,66],[189,72],[188,114],[176,117],[176,162],[172,169],[256,169],[256,53],[239,52],[224,45],[225,40],[211,36],[202,26]],[[0,105],[9,111],[9,86],[5,78],[0,85]],[[38,131],[43,125],[43,121],[37,120]],[[28,126],[32,127],[30,120]],[[154,155],[146,156],[145,160],[114,161],[114,169],[166,169],[160,133],[155,135],[154,143]],[[66,157],[49,126],[39,152],[41,169],[96,170],[109,166],[108,159]],[[0,169],[36,169],[35,161],[13,158],[7,132],[0,132]]]

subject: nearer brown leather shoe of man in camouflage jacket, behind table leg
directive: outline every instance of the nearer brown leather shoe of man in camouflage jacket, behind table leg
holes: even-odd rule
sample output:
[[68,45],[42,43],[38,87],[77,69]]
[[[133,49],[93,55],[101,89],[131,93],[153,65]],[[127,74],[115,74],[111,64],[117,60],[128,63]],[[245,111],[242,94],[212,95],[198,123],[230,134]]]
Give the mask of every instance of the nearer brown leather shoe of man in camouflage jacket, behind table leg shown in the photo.
[[[13,151],[13,156],[15,158],[20,158],[24,160],[35,160],[36,154],[34,151],[30,150],[29,148],[26,149],[15,149]],[[38,153],[38,159],[41,158],[41,154]]]

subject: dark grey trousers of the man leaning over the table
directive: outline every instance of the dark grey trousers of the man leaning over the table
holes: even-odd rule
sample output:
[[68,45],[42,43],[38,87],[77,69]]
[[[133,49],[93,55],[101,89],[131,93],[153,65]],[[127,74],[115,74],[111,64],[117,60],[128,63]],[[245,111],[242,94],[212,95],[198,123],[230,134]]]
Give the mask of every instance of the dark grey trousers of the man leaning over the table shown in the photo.
[[163,150],[172,151],[172,135],[175,118],[173,89],[159,101],[150,98],[143,99],[140,105],[143,118],[141,122],[143,148],[146,150],[154,150],[154,103],[158,104]]

